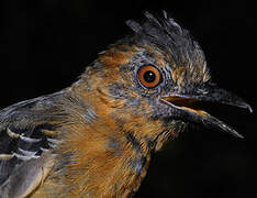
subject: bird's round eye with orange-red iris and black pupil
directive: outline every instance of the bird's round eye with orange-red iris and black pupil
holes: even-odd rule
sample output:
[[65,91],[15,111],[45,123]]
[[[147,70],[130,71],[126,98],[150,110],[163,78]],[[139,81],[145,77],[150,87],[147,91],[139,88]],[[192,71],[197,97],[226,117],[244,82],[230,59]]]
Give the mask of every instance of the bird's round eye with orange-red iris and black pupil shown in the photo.
[[138,69],[139,82],[146,88],[155,88],[161,81],[161,74],[153,65],[144,65]]

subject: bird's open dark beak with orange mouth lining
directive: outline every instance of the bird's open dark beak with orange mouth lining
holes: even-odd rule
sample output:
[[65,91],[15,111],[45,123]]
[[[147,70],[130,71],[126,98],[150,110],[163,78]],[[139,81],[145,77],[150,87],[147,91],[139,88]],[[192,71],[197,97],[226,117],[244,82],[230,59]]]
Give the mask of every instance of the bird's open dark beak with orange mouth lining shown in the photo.
[[[198,91],[200,92],[200,91]],[[160,102],[172,108],[172,114],[175,119],[183,119],[186,121],[203,123],[206,127],[220,128],[223,131],[236,136],[243,138],[233,128],[224,123],[223,121],[212,117],[206,111],[198,107],[200,102],[219,102],[230,106],[236,106],[239,108],[248,109],[253,112],[252,107],[247,105],[239,97],[216,87],[209,87],[202,94],[197,95],[167,95],[160,98]]]

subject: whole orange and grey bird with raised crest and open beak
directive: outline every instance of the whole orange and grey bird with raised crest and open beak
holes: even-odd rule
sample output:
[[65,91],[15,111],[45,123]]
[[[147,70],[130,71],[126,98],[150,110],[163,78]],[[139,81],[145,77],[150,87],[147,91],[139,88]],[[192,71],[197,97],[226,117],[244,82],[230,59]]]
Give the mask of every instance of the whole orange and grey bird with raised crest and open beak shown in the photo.
[[219,88],[166,11],[144,15],[71,86],[0,110],[1,198],[133,197],[152,155],[188,124],[243,138],[201,103],[250,106]]

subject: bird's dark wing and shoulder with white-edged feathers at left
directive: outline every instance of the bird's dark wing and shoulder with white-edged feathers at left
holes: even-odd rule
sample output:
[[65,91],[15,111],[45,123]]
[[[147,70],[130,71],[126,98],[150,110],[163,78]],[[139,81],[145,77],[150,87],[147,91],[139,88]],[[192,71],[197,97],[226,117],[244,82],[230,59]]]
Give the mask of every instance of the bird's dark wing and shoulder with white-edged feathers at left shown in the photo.
[[0,111],[1,196],[25,197],[51,169],[52,150],[59,144],[57,123],[64,95],[59,91]]

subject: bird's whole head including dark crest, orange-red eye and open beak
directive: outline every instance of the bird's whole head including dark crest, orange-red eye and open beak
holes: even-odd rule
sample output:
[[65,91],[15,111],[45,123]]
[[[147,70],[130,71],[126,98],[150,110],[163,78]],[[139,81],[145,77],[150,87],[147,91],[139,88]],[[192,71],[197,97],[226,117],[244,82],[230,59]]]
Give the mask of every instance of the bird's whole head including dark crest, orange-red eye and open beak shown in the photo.
[[250,106],[213,82],[203,51],[187,30],[166,12],[161,19],[148,12],[145,16],[143,24],[127,21],[134,35],[100,53],[82,75],[94,90],[97,114],[155,150],[192,122],[243,138],[198,105],[219,102],[252,111]]

